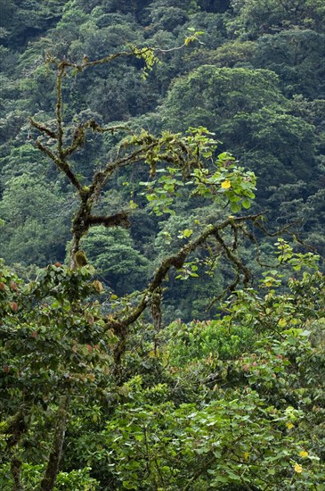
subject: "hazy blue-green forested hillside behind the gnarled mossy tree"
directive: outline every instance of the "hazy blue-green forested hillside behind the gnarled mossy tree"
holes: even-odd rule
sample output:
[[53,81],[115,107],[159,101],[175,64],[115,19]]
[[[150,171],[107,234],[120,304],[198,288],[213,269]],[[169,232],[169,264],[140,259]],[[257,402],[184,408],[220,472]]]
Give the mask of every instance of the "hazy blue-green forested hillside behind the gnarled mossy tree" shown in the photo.
[[[127,121],[132,128],[155,133],[206,127],[222,142],[220,152],[232,152],[240,165],[255,171],[254,211],[267,211],[273,228],[297,222],[299,237],[324,253],[322,0],[6,0],[0,8],[0,216],[5,262],[19,263],[25,274],[31,264],[64,262],[76,209],[72,189],[28,139],[28,116],[53,118],[55,87],[46,72],[45,52],[76,62],[84,55],[92,60],[129,45],[168,50],[182,46],[188,28],[204,31],[204,45],[192,43],[186,50],[161,55],[145,80],[139,73],[142,61],[127,59],[78,77],[66,94],[67,118]],[[92,175],[117,143],[118,137],[93,136],[73,157],[77,171],[85,179]],[[127,208],[141,192],[136,184],[141,180],[141,175],[121,171],[115,192],[105,197],[106,205]],[[135,204],[140,204],[137,199]],[[161,223],[144,216],[143,209],[135,210],[131,229],[93,231],[85,250],[102,279],[118,295],[139,287],[166,253],[167,234],[188,227],[191,206],[179,204],[176,216]],[[196,206],[202,215],[208,212],[205,203]],[[100,257],[93,254],[99,244],[105,249]],[[170,302],[177,306],[176,315],[201,317],[199,298],[206,280],[173,289]],[[215,290],[220,283],[215,278],[208,288]]]

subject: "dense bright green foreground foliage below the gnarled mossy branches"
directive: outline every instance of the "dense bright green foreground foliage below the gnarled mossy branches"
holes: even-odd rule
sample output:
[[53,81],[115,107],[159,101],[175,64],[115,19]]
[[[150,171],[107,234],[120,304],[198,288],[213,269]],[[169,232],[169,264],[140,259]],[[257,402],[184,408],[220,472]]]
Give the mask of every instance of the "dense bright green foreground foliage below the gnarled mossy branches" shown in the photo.
[[[118,371],[90,266],[58,263],[24,285],[3,265],[2,488],[321,490],[324,278],[312,254],[278,248],[296,270],[285,292],[272,270],[215,320],[138,320]],[[132,308],[122,302],[110,296],[118,316]]]

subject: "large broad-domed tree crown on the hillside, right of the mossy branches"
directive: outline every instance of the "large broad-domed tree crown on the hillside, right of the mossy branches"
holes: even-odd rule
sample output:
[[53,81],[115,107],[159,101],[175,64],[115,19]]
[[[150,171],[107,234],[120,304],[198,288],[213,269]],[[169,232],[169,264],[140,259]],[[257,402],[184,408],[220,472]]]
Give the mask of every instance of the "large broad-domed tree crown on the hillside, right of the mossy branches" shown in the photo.
[[[175,80],[161,118],[174,131],[184,130],[190,120],[215,131],[224,148],[231,147],[240,162],[256,172],[258,204],[266,209],[270,191],[280,183],[310,184],[319,175],[314,127],[292,115],[290,104],[273,71],[205,65]],[[313,191],[310,185],[306,189]],[[280,217],[277,196],[272,203],[270,220],[275,221]]]

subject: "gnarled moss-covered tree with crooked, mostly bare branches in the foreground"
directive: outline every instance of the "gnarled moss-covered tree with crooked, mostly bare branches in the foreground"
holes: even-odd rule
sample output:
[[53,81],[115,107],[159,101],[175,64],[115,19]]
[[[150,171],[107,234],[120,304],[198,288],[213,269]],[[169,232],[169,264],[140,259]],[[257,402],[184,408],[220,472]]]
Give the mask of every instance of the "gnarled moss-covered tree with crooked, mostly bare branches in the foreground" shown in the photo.
[[[69,163],[71,155],[84,145],[89,130],[99,134],[110,134],[118,131],[119,128],[102,127],[98,122],[91,119],[75,124],[72,136],[70,131],[67,135],[62,112],[62,89],[65,87],[64,84],[67,83],[67,80],[69,80],[67,78],[67,76],[69,76],[69,71],[84,71],[86,68],[110,62],[123,55],[142,57],[148,67],[155,61],[153,50],[148,48],[144,48],[143,50],[134,48],[130,52],[112,54],[94,62],[84,60],[79,64],[65,60],[59,61],[53,57],[49,57],[47,60],[49,64],[54,65],[55,70],[57,71],[55,128],[53,129],[52,125],[36,121],[35,119],[30,119],[30,123],[32,127],[37,129],[42,135],[42,137],[39,137],[36,140],[37,147],[52,160],[58,170],[61,171],[66,178],[69,179],[70,184],[76,188],[79,204],[72,223],[73,238],[69,255],[70,270],[62,271],[60,263],[56,266],[49,267],[46,272],[42,274],[43,279],[38,281],[35,287],[32,285],[28,287],[26,302],[28,302],[28,300],[29,302],[31,301],[31,304],[33,305],[32,312],[34,313],[29,312],[27,316],[26,307],[21,304],[21,301],[20,307],[15,296],[16,292],[17,295],[19,295],[19,288],[13,287],[12,282],[9,282],[9,287],[11,289],[8,292],[7,284],[10,275],[8,275],[8,273],[4,274],[4,281],[2,282],[5,313],[4,332],[10,332],[10,337],[12,338],[12,343],[7,345],[6,349],[10,350],[10,346],[14,346],[13,352],[9,352],[10,354],[6,354],[7,352],[4,350],[4,356],[13,357],[10,359],[12,365],[15,367],[14,373],[19,374],[20,387],[20,373],[24,370],[23,367],[25,366],[26,359],[28,359],[28,350],[30,348],[25,342],[21,345],[22,352],[19,350],[17,351],[17,343],[21,342],[20,331],[18,336],[16,336],[14,331],[12,331],[12,322],[18,321],[21,326],[26,326],[27,330],[21,330],[23,337],[30,336],[32,339],[37,338],[37,340],[39,339],[42,341],[42,346],[39,348],[39,352],[42,356],[44,354],[44,342],[45,340],[46,342],[48,341],[48,337],[46,334],[45,337],[42,335],[38,337],[38,334],[47,332],[47,329],[52,332],[52,322],[54,322],[55,325],[61,325],[61,329],[55,329],[55,333],[53,332],[53,335],[50,335],[51,337],[53,336],[53,342],[57,343],[57,348],[60,350],[61,355],[55,355],[55,353],[59,353],[57,352],[57,349],[51,349],[51,352],[49,353],[46,348],[45,354],[49,353],[50,360],[47,362],[45,360],[41,361],[37,359],[35,368],[28,370],[28,377],[30,374],[37,372],[38,366],[42,366],[45,370],[51,370],[54,378],[60,380],[62,377],[65,377],[63,370],[66,369],[67,363],[72,370],[69,371],[69,375],[67,376],[68,379],[76,379],[76,376],[77,379],[80,377],[79,375],[74,375],[76,370],[76,373],[78,372],[78,363],[75,365],[75,362],[72,362],[71,365],[70,361],[71,353],[72,356],[73,353],[77,353],[78,348],[76,347],[75,349],[74,346],[79,344],[78,337],[75,339],[75,337],[72,338],[69,334],[69,345],[66,346],[67,351],[62,351],[61,349],[64,338],[67,336],[65,330],[67,322],[69,325],[77,325],[80,324],[80,319],[83,319],[82,322],[85,324],[85,331],[82,336],[86,338],[85,342],[88,341],[88,343],[92,344],[88,344],[82,349],[86,356],[88,354],[92,354],[93,356],[93,353],[95,353],[93,352],[94,339],[93,337],[89,338],[89,334],[86,334],[86,331],[90,326],[92,326],[91,329],[93,329],[94,318],[98,316],[98,313],[92,315],[92,312],[89,312],[87,309],[87,313],[85,314],[84,307],[82,306],[84,304],[85,291],[89,291],[89,286],[87,284],[84,285],[84,283],[77,278],[78,275],[87,277],[90,270],[88,270],[88,267],[86,266],[85,254],[80,250],[80,243],[88,230],[93,226],[102,225],[106,228],[110,228],[127,227],[128,225],[128,211],[120,211],[112,215],[93,214],[94,204],[99,199],[102,189],[107,185],[110,176],[115,171],[123,169],[126,166],[134,166],[137,163],[142,163],[149,167],[151,179],[156,176],[156,172],[162,172],[159,179],[150,180],[145,185],[147,187],[147,198],[150,201],[150,204],[152,204],[152,210],[158,215],[173,212],[172,206],[174,195],[177,194],[177,189],[183,187],[183,184],[186,181],[192,186],[192,193],[211,196],[216,204],[221,204],[224,200],[227,201],[228,199],[232,199],[232,196],[238,196],[236,202],[238,210],[241,208],[241,203],[245,207],[248,207],[249,198],[254,196],[252,192],[252,189],[255,187],[254,176],[251,173],[245,174],[244,172],[237,170],[235,164],[232,163],[232,157],[229,154],[222,154],[219,156],[217,161],[218,166],[216,168],[214,167],[209,170],[206,166],[207,164],[204,163],[205,160],[208,162],[208,159],[212,157],[215,149],[215,141],[208,135],[206,129],[191,129],[187,137],[181,137],[180,135],[174,135],[169,132],[164,133],[161,137],[153,137],[146,131],[142,131],[139,135],[131,135],[122,141],[113,160],[107,162],[102,170],[95,171],[93,178],[89,183],[85,185],[81,183],[79,176]],[[46,139],[49,139],[50,141],[46,143]],[[54,147],[53,140],[55,141]],[[192,178],[190,178],[191,171],[194,171]],[[191,180],[189,180],[189,178]],[[175,254],[170,255],[160,263],[158,269],[153,273],[147,287],[145,287],[142,293],[138,295],[138,298],[136,298],[135,304],[131,304],[130,307],[127,306],[125,310],[124,304],[122,303],[121,307],[118,308],[118,311],[113,311],[113,313],[109,315],[104,322],[104,326],[103,320],[100,320],[99,331],[101,331],[101,336],[105,336],[103,334],[104,332],[111,332],[112,336],[117,339],[116,345],[112,351],[114,368],[112,368],[111,373],[113,377],[118,380],[122,376],[121,362],[123,360],[129,326],[132,326],[134,322],[140,318],[142,312],[150,307],[154,325],[156,326],[156,329],[159,329],[161,325],[161,315],[159,313],[161,301],[160,289],[168,271],[171,268],[182,270],[185,266],[185,262],[191,256],[191,253],[195,252],[195,250],[200,245],[203,245],[207,239],[211,238],[212,240],[215,240],[220,248],[219,253],[223,252],[226,254],[228,259],[238,270],[237,277],[232,287],[239,283],[241,276],[243,276],[244,282],[248,283],[249,274],[247,268],[240,262],[240,259],[237,258],[234,246],[227,245],[222,236],[223,230],[229,229],[236,237],[238,228],[242,229],[245,222],[256,221],[257,219],[257,216],[228,217],[223,221],[206,225],[199,230],[199,233],[196,234],[195,238],[188,241],[188,243],[183,245]],[[184,237],[186,237],[186,235]],[[67,292],[65,292],[66,288],[68,288]],[[102,291],[102,285],[98,280],[93,282],[93,288]],[[42,291],[45,291],[45,293],[42,293]],[[41,298],[42,302],[45,301],[45,304],[40,306],[40,308],[36,308],[33,297],[35,299]],[[69,311],[71,312],[72,318],[68,321],[63,314],[63,317],[60,320],[60,315],[58,316],[55,314],[55,317],[53,317],[46,313],[45,320],[37,320],[38,316],[41,316],[42,318],[43,309],[48,312],[48,304],[46,304],[45,300],[47,298],[51,305],[49,307],[50,312],[53,308],[54,310],[59,309],[60,312]],[[22,302],[24,302],[24,300]],[[21,320],[19,313],[20,308],[23,315]],[[12,312],[17,312],[17,316],[12,316]],[[77,320],[76,316],[81,316],[81,318]],[[45,331],[42,329],[45,329]],[[14,339],[16,341],[13,341]],[[51,343],[49,346],[50,345]],[[98,348],[95,348],[95,351],[97,349]],[[17,353],[20,353],[19,358],[17,358]],[[76,358],[78,359],[78,357]],[[6,366],[9,367],[10,365],[7,363]],[[8,370],[5,369],[4,373],[9,373],[11,369],[9,368]],[[45,372],[43,377],[44,376]],[[81,379],[84,378],[84,376],[81,377]],[[92,375],[90,376],[90,379],[93,381]],[[4,382],[4,387],[6,387],[6,383],[7,380]],[[53,400],[54,394],[58,395],[61,393],[61,403],[58,405],[55,419],[53,446],[52,448],[48,447],[48,464],[45,469],[45,474],[41,479],[40,486],[42,489],[53,489],[55,485],[61,462],[62,445],[69,413],[69,400],[75,391],[74,387],[67,387],[66,384],[63,384],[63,386],[63,390],[59,390],[59,386],[55,384],[53,386],[54,392],[51,392],[48,384],[45,384],[45,387],[47,387],[46,390],[44,392],[41,390],[41,394],[39,394],[39,389],[36,389],[36,387],[32,387],[31,385],[31,398],[28,399],[28,401],[25,397],[24,390],[20,388],[18,392],[19,396],[16,398],[13,407],[9,404],[4,409],[4,417],[7,418],[8,421],[4,425],[4,431],[9,435],[14,434],[12,440],[10,439],[10,436],[7,437],[7,445],[9,445],[8,449],[11,454],[12,479],[14,481],[14,487],[17,489],[22,487],[20,478],[22,462],[19,456],[21,453],[21,442],[23,442],[26,434],[31,430],[28,425],[28,421],[31,420],[31,414],[37,411],[37,404],[40,399],[45,403],[47,408],[47,403]],[[51,395],[48,394],[49,390]],[[24,404],[22,404],[22,401],[25,401]],[[20,404],[22,404],[22,408],[24,409],[18,409]],[[27,408],[25,408],[25,404],[27,404]],[[45,417],[45,415],[43,417]],[[21,422],[22,420],[24,421],[23,423]]]

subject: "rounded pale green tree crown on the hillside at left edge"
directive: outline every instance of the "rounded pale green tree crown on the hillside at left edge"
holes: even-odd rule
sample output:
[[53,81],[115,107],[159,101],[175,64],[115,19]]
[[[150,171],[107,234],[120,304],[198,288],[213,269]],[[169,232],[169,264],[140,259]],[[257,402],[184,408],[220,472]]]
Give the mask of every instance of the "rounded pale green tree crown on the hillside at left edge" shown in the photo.
[[45,179],[22,174],[6,183],[0,204],[2,256],[7,262],[42,265],[63,261],[71,211]]

